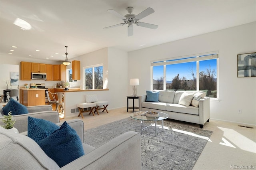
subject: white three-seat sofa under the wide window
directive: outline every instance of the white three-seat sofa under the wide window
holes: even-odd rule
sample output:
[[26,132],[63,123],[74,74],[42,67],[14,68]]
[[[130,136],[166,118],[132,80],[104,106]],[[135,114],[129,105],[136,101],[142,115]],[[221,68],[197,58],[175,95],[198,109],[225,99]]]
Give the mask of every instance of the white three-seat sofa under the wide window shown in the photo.
[[203,128],[210,120],[210,97],[199,100],[199,107],[178,104],[182,93],[195,94],[198,91],[159,91],[159,101],[146,101],[147,95],[140,96],[140,111],[158,111],[169,115],[169,119],[196,123]]

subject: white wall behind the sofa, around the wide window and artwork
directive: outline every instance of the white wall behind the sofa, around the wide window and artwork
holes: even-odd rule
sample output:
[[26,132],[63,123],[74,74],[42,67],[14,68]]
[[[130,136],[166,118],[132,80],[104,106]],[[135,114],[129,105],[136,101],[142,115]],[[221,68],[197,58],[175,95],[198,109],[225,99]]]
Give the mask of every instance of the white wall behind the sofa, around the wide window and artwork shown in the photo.
[[[256,77],[237,77],[237,54],[256,52],[255,30],[253,22],[128,52],[128,79],[139,78],[137,94],[146,94],[150,90],[150,61],[219,51],[220,100],[210,102],[210,118],[256,125]],[[127,93],[131,90],[128,85]]]

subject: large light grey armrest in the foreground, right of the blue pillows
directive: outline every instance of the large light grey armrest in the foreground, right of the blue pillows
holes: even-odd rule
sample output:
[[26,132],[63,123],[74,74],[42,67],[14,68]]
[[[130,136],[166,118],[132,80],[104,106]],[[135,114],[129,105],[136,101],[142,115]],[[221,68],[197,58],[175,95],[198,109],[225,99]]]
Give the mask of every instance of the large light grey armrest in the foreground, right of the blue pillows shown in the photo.
[[125,132],[61,169],[141,170],[140,134]]

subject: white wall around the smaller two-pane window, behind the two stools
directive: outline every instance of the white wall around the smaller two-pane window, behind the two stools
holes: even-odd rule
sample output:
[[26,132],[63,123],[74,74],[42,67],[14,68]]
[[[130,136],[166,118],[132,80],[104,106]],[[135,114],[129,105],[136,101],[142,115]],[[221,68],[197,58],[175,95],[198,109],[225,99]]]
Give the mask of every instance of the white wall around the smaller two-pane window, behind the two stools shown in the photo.
[[[80,60],[80,76],[82,78],[83,67],[103,64],[104,81],[108,91],[86,91],[65,93],[65,118],[75,117],[70,109],[76,108],[76,104],[85,102],[86,94],[97,94],[99,100],[109,101],[108,109],[126,106],[127,92],[127,52],[112,47],[103,48],[72,60]],[[80,80],[82,87],[82,79]]]

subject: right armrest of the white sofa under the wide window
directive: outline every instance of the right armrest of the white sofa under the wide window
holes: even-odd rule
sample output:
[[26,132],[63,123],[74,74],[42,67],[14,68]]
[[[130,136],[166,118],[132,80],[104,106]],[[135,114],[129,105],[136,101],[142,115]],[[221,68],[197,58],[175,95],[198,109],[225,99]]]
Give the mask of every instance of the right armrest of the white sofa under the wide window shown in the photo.
[[199,101],[199,124],[204,125],[210,119],[210,97],[204,97]]

